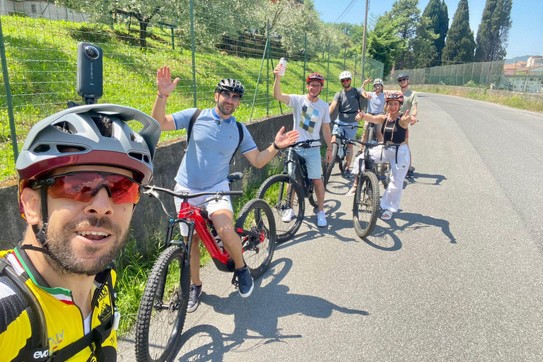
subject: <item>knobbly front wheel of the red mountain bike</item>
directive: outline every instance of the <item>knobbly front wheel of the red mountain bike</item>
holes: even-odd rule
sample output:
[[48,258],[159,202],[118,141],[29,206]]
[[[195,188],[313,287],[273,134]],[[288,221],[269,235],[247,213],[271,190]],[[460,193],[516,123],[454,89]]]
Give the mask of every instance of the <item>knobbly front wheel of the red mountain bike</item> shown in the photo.
[[190,265],[178,246],[164,250],[147,279],[136,325],[136,361],[172,361],[189,301]]

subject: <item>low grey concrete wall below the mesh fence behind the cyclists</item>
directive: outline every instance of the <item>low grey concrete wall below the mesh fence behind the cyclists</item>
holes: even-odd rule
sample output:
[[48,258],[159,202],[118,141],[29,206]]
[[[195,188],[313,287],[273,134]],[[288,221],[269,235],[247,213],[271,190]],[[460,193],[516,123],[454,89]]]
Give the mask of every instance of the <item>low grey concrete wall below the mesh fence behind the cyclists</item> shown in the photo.
[[[251,123],[246,123],[252,138],[255,139],[259,149],[268,147],[274,141],[275,134],[282,126],[286,129],[292,129],[292,113],[279,115],[264,119],[258,119]],[[181,159],[185,154],[185,139],[162,144],[156,151],[153,161],[155,168],[155,177],[153,184],[160,187],[173,189],[175,181],[173,178],[177,174]],[[251,184],[255,181],[262,181],[266,176],[266,168],[254,168],[245,157],[238,153],[235,155],[235,164],[230,166],[231,172],[244,172],[243,182],[235,182],[233,189],[242,189],[243,185]],[[169,210],[175,210],[173,197],[165,197],[166,206]],[[13,247],[23,238],[26,229],[26,223],[19,214],[17,203],[17,187],[0,188],[0,210],[2,210],[3,227],[0,228],[0,250],[6,250]],[[162,232],[166,225],[167,218],[160,206],[158,200],[152,197],[141,197],[136,211],[132,217],[132,235],[136,240],[147,240],[156,230]],[[146,243],[138,242],[139,245]]]

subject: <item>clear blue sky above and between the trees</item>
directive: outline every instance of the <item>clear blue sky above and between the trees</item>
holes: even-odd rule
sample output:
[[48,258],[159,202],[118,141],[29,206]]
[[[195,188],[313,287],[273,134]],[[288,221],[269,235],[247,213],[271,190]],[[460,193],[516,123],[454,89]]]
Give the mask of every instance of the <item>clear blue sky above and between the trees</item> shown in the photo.
[[[325,22],[334,22],[339,18],[351,0],[314,0],[317,11]],[[341,19],[341,22],[361,24],[364,20],[366,0],[355,0],[349,13]],[[429,0],[419,0],[421,12]],[[460,0],[445,0],[449,11],[449,25]],[[477,36],[477,28],[481,23],[484,4],[486,0],[468,0],[469,3],[469,26]],[[368,23],[370,15],[380,16],[385,11],[390,11],[394,0],[370,0],[368,11]],[[543,55],[543,2],[542,0],[513,0],[511,11],[513,25],[509,30],[507,58],[521,57],[522,55]]]

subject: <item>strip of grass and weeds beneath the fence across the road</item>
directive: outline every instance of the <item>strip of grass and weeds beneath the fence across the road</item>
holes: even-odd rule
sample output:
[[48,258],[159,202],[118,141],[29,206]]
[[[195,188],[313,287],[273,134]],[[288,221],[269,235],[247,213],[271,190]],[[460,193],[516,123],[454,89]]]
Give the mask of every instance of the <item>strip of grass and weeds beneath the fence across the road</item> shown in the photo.
[[[483,89],[482,93],[475,91],[473,85],[467,85],[472,87],[472,90],[469,90],[467,93],[465,91],[460,91],[460,89],[433,86],[421,89],[422,92],[428,93],[438,93],[438,94],[447,94],[447,95],[458,95],[464,98],[470,98],[475,100],[484,100],[486,102],[497,103],[500,105],[507,105],[508,107],[518,108],[519,110],[531,110],[534,112],[543,112],[543,102],[541,100],[527,100],[525,98],[520,98],[518,95],[491,95],[486,94],[486,88]],[[414,86],[416,90],[416,86]],[[542,98],[543,99],[543,98]]]

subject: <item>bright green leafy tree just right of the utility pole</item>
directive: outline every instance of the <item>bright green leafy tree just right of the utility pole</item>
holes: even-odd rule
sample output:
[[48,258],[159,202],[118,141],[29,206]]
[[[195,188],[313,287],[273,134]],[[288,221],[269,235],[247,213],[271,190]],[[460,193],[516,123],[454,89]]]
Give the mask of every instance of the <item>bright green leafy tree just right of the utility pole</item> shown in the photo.
[[380,16],[375,28],[368,34],[366,55],[385,64],[383,76],[390,74],[392,66],[406,52],[406,40],[398,37],[399,19],[392,20],[390,16]]

